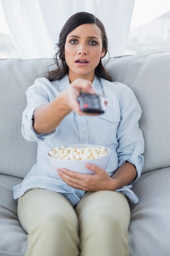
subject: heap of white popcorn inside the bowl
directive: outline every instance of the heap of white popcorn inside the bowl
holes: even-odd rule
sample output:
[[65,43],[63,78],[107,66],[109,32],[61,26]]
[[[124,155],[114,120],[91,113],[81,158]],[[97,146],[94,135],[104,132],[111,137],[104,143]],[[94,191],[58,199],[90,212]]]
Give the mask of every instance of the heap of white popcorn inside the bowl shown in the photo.
[[104,146],[101,146],[101,148],[91,146],[86,148],[65,148],[64,146],[60,146],[49,151],[49,156],[60,160],[90,160],[101,158],[105,155],[108,155],[108,152]]

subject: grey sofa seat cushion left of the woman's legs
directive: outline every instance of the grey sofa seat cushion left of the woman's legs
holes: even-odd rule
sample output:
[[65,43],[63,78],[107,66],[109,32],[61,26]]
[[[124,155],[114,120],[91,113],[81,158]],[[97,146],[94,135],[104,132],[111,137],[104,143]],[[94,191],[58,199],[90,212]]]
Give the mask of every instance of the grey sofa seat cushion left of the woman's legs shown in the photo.
[[0,174],[0,255],[23,256],[27,235],[17,217],[17,200],[13,199],[13,186],[21,178]]

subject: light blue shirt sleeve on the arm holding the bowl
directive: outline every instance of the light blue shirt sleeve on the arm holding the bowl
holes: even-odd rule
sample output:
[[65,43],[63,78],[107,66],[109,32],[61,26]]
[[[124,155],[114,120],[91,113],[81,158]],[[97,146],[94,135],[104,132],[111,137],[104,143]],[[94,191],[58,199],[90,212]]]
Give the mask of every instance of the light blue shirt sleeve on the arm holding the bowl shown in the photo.
[[139,119],[141,117],[141,106],[137,101],[134,92],[122,83],[119,83],[119,104],[120,104],[120,122],[117,128],[117,141],[119,147],[118,168],[126,161],[134,164],[137,170],[136,182],[144,166],[144,137],[139,128]]

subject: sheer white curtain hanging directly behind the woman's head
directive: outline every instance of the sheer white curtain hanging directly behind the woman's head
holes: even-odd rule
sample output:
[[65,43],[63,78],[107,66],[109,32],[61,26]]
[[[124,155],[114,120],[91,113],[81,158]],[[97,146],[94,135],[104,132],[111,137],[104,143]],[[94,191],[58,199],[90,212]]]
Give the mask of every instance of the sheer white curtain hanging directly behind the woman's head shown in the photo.
[[124,54],[135,0],[1,0],[1,4],[23,59],[53,58],[63,25],[79,11],[93,13],[103,22],[114,57]]

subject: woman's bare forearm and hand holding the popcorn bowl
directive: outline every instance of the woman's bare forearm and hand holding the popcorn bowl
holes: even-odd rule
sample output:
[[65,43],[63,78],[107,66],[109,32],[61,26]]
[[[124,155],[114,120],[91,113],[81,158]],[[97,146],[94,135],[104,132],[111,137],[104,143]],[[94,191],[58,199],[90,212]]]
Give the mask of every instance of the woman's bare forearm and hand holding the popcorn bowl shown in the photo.
[[100,190],[115,191],[122,186],[130,184],[137,174],[135,166],[129,162],[122,164],[112,177],[95,164],[90,164],[90,166],[86,164],[86,167],[94,171],[95,174],[76,173],[66,168],[56,169],[56,171],[58,176],[69,186],[91,192]]

